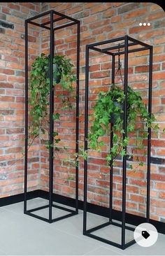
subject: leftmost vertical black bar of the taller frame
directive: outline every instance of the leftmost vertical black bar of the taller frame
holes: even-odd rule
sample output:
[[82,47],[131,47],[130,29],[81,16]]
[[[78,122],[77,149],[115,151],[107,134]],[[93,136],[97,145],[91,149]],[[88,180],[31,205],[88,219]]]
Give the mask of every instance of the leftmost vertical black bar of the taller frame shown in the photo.
[[28,23],[27,23],[27,20],[25,20],[24,213],[27,211],[27,147],[28,147]]

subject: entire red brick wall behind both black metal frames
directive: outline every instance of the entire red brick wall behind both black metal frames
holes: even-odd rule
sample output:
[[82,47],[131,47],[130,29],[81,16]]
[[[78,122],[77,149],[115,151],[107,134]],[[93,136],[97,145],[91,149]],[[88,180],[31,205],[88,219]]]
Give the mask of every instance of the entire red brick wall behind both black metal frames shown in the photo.
[[[27,3],[28,6],[26,6],[26,3],[20,3],[20,4],[12,4],[13,6],[17,6],[17,12],[22,13],[23,11],[30,12],[30,8],[32,10],[40,11],[39,3],[36,3],[35,5],[33,3]],[[1,3],[1,15],[0,20],[4,18],[3,15],[6,15],[6,17],[13,18],[14,16],[10,15],[10,13],[15,13],[15,7],[8,6],[11,5],[11,3]],[[59,12],[62,12],[66,15],[71,15],[71,17],[75,17],[76,19],[80,20],[81,22],[81,34],[80,34],[80,130],[79,130],[79,139],[80,141],[83,141],[84,136],[84,93],[85,93],[85,45],[87,43],[94,43],[96,41],[103,41],[108,38],[115,38],[118,36],[124,36],[125,34],[128,34],[129,36],[132,36],[133,38],[137,38],[140,41],[143,41],[145,43],[149,43],[154,46],[154,73],[153,73],[153,98],[152,98],[152,111],[155,113],[157,120],[159,122],[159,125],[161,128],[164,128],[165,125],[165,118],[164,118],[164,63],[165,63],[165,32],[164,32],[164,10],[157,6],[155,3],[42,3],[41,4],[41,10],[50,10],[54,9]],[[23,9],[22,9],[23,8]],[[34,9],[33,9],[34,8]],[[35,9],[36,8],[36,9]],[[6,12],[10,11],[9,14],[6,14]],[[23,34],[24,33],[24,17],[18,17],[18,15],[15,16],[14,20],[8,20],[10,22],[14,22],[15,26],[20,28],[21,31],[17,29],[17,33]],[[28,13],[27,13],[28,15]],[[18,20],[17,20],[18,19]],[[22,20],[22,24],[17,24],[19,20]],[[150,22],[150,27],[139,27],[140,22]],[[8,32],[10,29],[5,29],[5,34],[3,34],[3,29],[0,30],[0,33],[3,37],[3,41],[0,41],[0,43],[5,42],[3,45],[1,45],[1,59],[0,59],[0,66],[2,68],[1,70],[1,98],[9,96],[14,97],[14,102],[17,103],[16,99],[22,99],[24,97],[24,94],[17,96],[15,90],[17,89],[17,86],[19,85],[19,90],[24,93],[24,78],[22,77],[22,73],[18,72],[18,69],[20,69],[19,66],[8,66],[7,64],[12,63],[8,62],[8,59],[6,61],[3,60],[2,56],[11,56],[10,49],[12,52],[15,52],[15,49],[10,48],[10,45],[19,45],[19,42],[22,44],[19,45],[19,47],[24,46],[24,40],[19,37],[19,35],[16,35],[15,38],[11,38],[10,32]],[[11,31],[11,30],[10,30]],[[13,31],[13,30],[12,30]],[[14,30],[15,31],[15,30]],[[10,36],[7,36],[7,33],[10,34]],[[33,35],[35,36],[35,35]],[[16,40],[17,39],[17,40]],[[68,28],[62,31],[58,31],[56,36],[56,44],[57,44],[57,50],[58,52],[62,52],[69,57],[73,59],[73,62],[76,64],[76,55],[75,55],[75,40],[76,40],[76,29]],[[10,40],[10,41],[8,41]],[[42,39],[43,40],[43,39]],[[6,42],[7,41],[7,42]],[[37,42],[37,41],[36,41]],[[46,41],[41,41],[42,43],[42,49],[48,48]],[[44,45],[45,43],[45,45]],[[8,45],[8,46],[7,46]],[[16,46],[15,46],[16,47]],[[4,49],[6,49],[9,52],[4,52]],[[31,47],[32,48],[32,47]],[[20,51],[23,51],[20,50]],[[37,55],[37,52],[31,52],[31,55]],[[137,57],[136,57],[137,56]],[[148,79],[148,74],[145,72],[144,67],[143,68],[137,68],[137,66],[146,66],[148,65],[148,55],[146,52],[142,52],[141,55],[131,55],[131,58],[129,60],[129,81],[131,85],[134,87],[134,89],[138,90],[140,89],[141,92],[143,92],[144,98],[146,97],[146,81]],[[12,55],[14,57],[14,55]],[[11,57],[10,57],[11,58]],[[19,64],[22,65],[24,62],[24,52],[22,52],[22,55],[17,57],[17,60]],[[5,62],[5,63],[4,63]],[[6,63],[7,62],[7,63]],[[15,65],[15,60],[13,61]],[[96,95],[99,92],[99,90],[107,90],[108,85],[110,83],[110,80],[108,76],[110,75],[110,57],[104,57],[103,55],[94,55],[92,53],[92,58],[90,59],[90,95],[89,95],[89,106],[92,106],[94,104],[94,100],[96,99]],[[21,66],[23,69],[23,65]],[[3,69],[7,70],[10,69],[11,71],[14,71],[13,74],[4,74]],[[21,71],[21,69],[20,69]],[[9,71],[10,72],[10,71]],[[18,72],[18,73],[17,73]],[[9,78],[13,76],[13,78],[19,77],[19,81],[11,81]],[[8,80],[9,79],[9,80]],[[21,80],[22,79],[22,80]],[[10,87],[10,92],[13,92],[12,94],[7,94],[7,89],[4,86],[7,86],[6,84],[11,84],[8,86]],[[5,85],[4,85],[5,84]],[[21,87],[22,86],[22,87]],[[141,87],[139,87],[141,86]],[[18,90],[18,89],[17,89]],[[57,90],[60,90],[60,88],[57,88]],[[5,98],[4,98],[5,99]],[[3,171],[1,173],[7,173],[7,179],[0,181],[1,184],[3,184],[1,189],[1,195],[2,197],[8,195],[8,194],[17,194],[22,191],[22,180],[18,180],[17,183],[19,184],[18,188],[15,188],[13,190],[12,186],[15,186],[15,180],[11,176],[9,176],[9,173],[12,173],[11,175],[14,175],[18,177],[17,172],[20,171],[20,177],[22,179],[23,174],[23,165],[22,162],[20,164],[17,163],[15,165],[14,169],[10,169],[13,167],[8,166],[8,162],[11,157],[10,155],[13,155],[13,159],[16,157],[19,157],[19,155],[12,151],[12,152],[6,152],[6,150],[11,148],[19,148],[22,147],[22,142],[20,140],[21,136],[24,133],[24,130],[17,130],[18,135],[17,138],[14,140],[12,136],[15,136],[15,132],[13,132],[13,135],[7,134],[6,128],[7,126],[10,128],[16,128],[16,129],[23,129],[24,128],[24,122],[23,122],[23,109],[24,105],[22,103],[21,106],[19,105],[13,105],[11,104],[11,99],[5,99],[3,101],[1,100],[0,106],[2,111],[3,110],[13,110],[12,113],[8,113],[9,116],[12,115],[13,118],[22,118],[21,120],[5,120],[6,114],[1,115],[1,122],[0,122],[0,133],[1,133],[1,141],[3,140],[4,144],[2,144],[0,149],[0,159],[1,162],[4,162],[6,166],[2,168]],[[55,99],[56,100],[56,99]],[[57,102],[60,107],[60,102]],[[58,105],[57,105],[58,106]],[[20,114],[17,114],[17,111]],[[74,113],[74,110],[73,110]],[[73,127],[69,127],[69,124],[73,124],[73,113],[69,113],[66,115],[66,113],[62,113],[62,120],[57,124],[57,127],[59,127],[59,131],[62,136],[62,143],[64,141],[64,145],[69,145],[70,150],[73,150],[74,146],[74,130]],[[6,123],[7,122],[7,123]],[[19,123],[15,127],[15,123]],[[11,138],[9,138],[11,137]],[[108,138],[105,138],[108,142]],[[12,143],[9,144],[8,143]],[[109,143],[109,142],[108,142]],[[15,144],[17,144],[15,146]],[[72,151],[71,151],[72,152]],[[91,201],[94,204],[99,204],[103,206],[108,206],[108,180],[109,180],[109,173],[108,173],[108,167],[105,165],[105,162],[103,160],[103,156],[105,155],[106,149],[103,151],[103,153],[100,155],[99,153],[94,152],[93,155],[89,158],[89,201]],[[165,219],[165,211],[164,211],[164,204],[165,204],[165,165],[164,165],[164,134],[162,132],[159,132],[159,135],[156,136],[155,134],[152,134],[152,181],[151,181],[151,214],[150,218],[155,220],[161,220],[164,221]],[[19,152],[20,154],[20,152]],[[38,154],[38,152],[35,150],[31,154]],[[44,190],[48,190],[48,153],[45,151],[45,149],[41,148],[41,179],[36,180],[36,177],[34,180],[35,187],[41,187]],[[31,157],[31,155],[29,155]],[[38,155],[35,155],[34,158],[39,157]],[[38,158],[34,159],[31,166],[29,168],[32,171],[34,171],[34,176],[37,175],[38,171]],[[68,176],[73,176],[73,174],[70,174],[70,172],[73,171],[73,169],[67,170],[65,167],[62,167],[60,165],[60,162],[57,162],[57,159],[55,159],[56,165],[55,165],[55,192],[59,194],[64,194],[69,197],[73,197],[73,185],[74,180],[67,180]],[[157,164],[154,164],[154,163]],[[120,161],[118,162],[119,166],[115,167],[115,177],[114,177],[114,208],[120,209],[121,204],[121,194],[122,194],[122,187],[121,187],[121,169],[120,169]],[[36,168],[36,169],[35,169]],[[36,171],[35,171],[36,170]],[[14,174],[13,174],[14,173]],[[145,166],[141,169],[134,171],[128,170],[128,179],[127,179],[127,212],[134,213],[138,215],[144,215],[145,211]],[[74,178],[74,177],[73,177]],[[83,199],[83,164],[80,162],[80,180],[79,180],[79,194],[80,199]],[[10,184],[8,184],[10,182]],[[33,181],[34,182],[34,181]],[[6,184],[7,183],[7,184]],[[16,184],[17,184],[16,183]],[[39,185],[39,186],[37,186]],[[9,192],[5,192],[5,190],[9,189]]]

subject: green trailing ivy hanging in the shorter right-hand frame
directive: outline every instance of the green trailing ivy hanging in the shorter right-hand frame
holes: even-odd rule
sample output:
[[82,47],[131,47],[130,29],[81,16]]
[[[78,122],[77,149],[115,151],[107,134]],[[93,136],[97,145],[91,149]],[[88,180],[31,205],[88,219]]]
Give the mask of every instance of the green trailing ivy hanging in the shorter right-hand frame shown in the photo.
[[[124,104],[124,90],[117,85],[112,85],[108,92],[100,92],[99,98],[94,106],[94,113],[92,115],[92,126],[88,136],[88,145],[91,150],[101,150],[104,145],[104,135],[110,135],[113,132],[113,147],[108,152],[106,157],[108,164],[114,164],[116,157],[121,155],[128,155],[129,159],[132,155],[124,150],[125,146],[129,145],[130,138],[135,132],[135,147],[136,150],[143,150],[144,140],[148,138],[148,127],[154,131],[159,129],[158,125],[154,125],[156,121],[155,115],[149,115],[148,109],[143,103],[143,99],[139,92],[135,92],[128,86],[127,92],[127,136],[123,140],[123,104]],[[110,120],[115,120],[110,131]],[[137,127],[137,121],[141,125]],[[144,152],[145,155],[145,152]],[[139,165],[143,165],[143,161],[139,161]],[[129,166],[132,168],[132,166]]]

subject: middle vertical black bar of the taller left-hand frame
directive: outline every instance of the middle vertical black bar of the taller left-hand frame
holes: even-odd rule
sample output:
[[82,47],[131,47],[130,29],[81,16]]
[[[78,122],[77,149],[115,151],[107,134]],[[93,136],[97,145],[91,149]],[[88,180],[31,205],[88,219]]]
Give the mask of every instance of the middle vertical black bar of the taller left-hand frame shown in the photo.
[[50,12],[50,179],[49,179],[49,221],[52,221],[52,192],[53,192],[53,131],[54,121],[52,115],[54,113],[54,87],[53,87],[53,57],[54,57],[54,30],[53,30],[53,11]]

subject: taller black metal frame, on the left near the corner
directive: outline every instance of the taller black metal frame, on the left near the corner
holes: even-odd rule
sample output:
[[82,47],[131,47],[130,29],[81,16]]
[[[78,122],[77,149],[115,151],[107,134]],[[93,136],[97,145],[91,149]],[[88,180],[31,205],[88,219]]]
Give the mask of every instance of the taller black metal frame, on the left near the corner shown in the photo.
[[[35,20],[44,16],[50,15],[50,20],[48,22],[38,23]],[[54,15],[58,15],[57,18],[54,18]],[[69,22],[58,25],[54,27],[55,22],[59,20],[67,19]],[[44,29],[50,30],[50,145],[53,142],[53,130],[54,130],[54,122],[53,122],[53,112],[54,112],[54,87],[52,85],[53,76],[52,76],[52,59],[54,57],[54,36],[55,31],[58,29],[64,29],[66,27],[70,27],[73,25],[77,26],[77,67],[76,67],[76,76],[77,76],[77,86],[76,86],[76,153],[78,153],[78,115],[79,115],[79,69],[80,69],[80,21],[73,19],[72,17],[66,16],[62,13],[59,13],[55,10],[49,10],[45,13],[41,13],[34,17],[31,17],[25,20],[25,154],[24,154],[24,213],[30,215],[34,218],[38,218],[40,220],[44,220],[45,222],[56,222],[58,220],[62,220],[64,218],[68,218],[72,215],[78,214],[78,166],[76,166],[76,205],[75,210],[71,210],[66,207],[57,206],[53,204],[52,194],[53,194],[53,148],[50,147],[50,161],[49,161],[49,204],[37,208],[33,208],[27,210],[27,148],[28,148],[28,24],[33,24],[37,27],[41,27]],[[50,27],[49,27],[50,26]],[[64,211],[68,211],[69,213],[66,215],[62,215],[59,218],[52,218],[52,207],[59,208]],[[43,208],[49,208],[49,218],[43,218],[39,215],[34,214],[35,211],[42,210]]]

